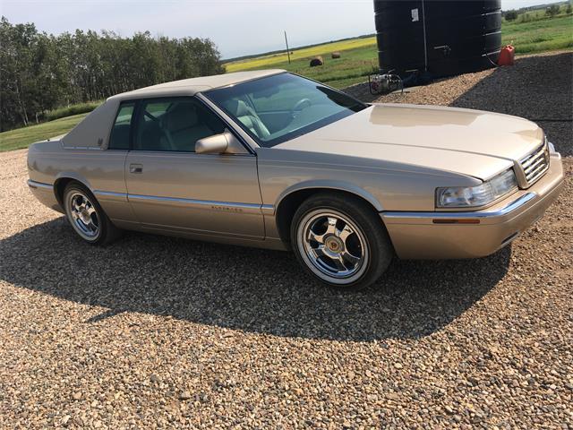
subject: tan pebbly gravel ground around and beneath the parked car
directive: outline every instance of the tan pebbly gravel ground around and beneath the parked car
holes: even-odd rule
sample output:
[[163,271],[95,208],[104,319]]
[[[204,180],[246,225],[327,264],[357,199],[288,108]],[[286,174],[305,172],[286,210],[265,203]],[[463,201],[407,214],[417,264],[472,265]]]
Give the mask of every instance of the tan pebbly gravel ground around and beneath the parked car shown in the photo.
[[[400,101],[482,107],[483,82],[519,64]],[[2,428],[573,428],[571,157],[560,199],[511,247],[394,262],[351,294],[287,253],[82,245],[27,190],[25,157],[0,154]]]

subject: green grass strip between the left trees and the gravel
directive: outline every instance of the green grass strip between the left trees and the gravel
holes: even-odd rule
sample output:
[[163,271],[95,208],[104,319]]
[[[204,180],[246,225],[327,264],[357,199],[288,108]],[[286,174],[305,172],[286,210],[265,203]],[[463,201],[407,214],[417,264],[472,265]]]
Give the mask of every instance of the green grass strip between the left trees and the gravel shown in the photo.
[[65,118],[56,119],[48,123],[30,125],[28,127],[0,133],[0,151],[28,148],[30,143],[67,133],[86,115],[88,114],[66,116]]

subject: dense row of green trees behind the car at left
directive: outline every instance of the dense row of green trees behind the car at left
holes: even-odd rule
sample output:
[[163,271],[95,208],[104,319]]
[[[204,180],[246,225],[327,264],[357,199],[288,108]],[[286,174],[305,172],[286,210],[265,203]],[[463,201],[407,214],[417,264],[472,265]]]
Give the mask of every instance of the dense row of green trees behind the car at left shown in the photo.
[[0,22],[0,130],[30,125],[69,106],[195,76],[224,73],[210,39],[124,38],[114,31],[47,34]]

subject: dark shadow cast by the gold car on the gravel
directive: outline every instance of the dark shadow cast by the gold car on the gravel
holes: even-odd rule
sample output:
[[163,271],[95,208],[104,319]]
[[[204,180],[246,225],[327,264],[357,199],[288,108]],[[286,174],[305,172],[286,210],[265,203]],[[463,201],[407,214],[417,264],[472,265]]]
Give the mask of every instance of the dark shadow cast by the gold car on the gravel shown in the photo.
[[478,260],[401,262],[358,292],[325,288],[291,253],[128,233],[81,243],[64,218],[0,241],[0,279],[115,314],[325,340],[415,339],[446,326],[508,271],[510,249]]

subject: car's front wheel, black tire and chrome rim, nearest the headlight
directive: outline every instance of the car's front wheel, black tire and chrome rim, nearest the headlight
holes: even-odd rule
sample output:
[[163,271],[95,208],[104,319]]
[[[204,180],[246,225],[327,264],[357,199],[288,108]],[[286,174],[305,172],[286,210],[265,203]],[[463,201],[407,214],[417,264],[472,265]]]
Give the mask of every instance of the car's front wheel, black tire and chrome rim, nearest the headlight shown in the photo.
[[365,288],[386,271],[394,256],[378,214],[362,200],[319,193],[296,210],[290,239],[297,260],[330,287]]

